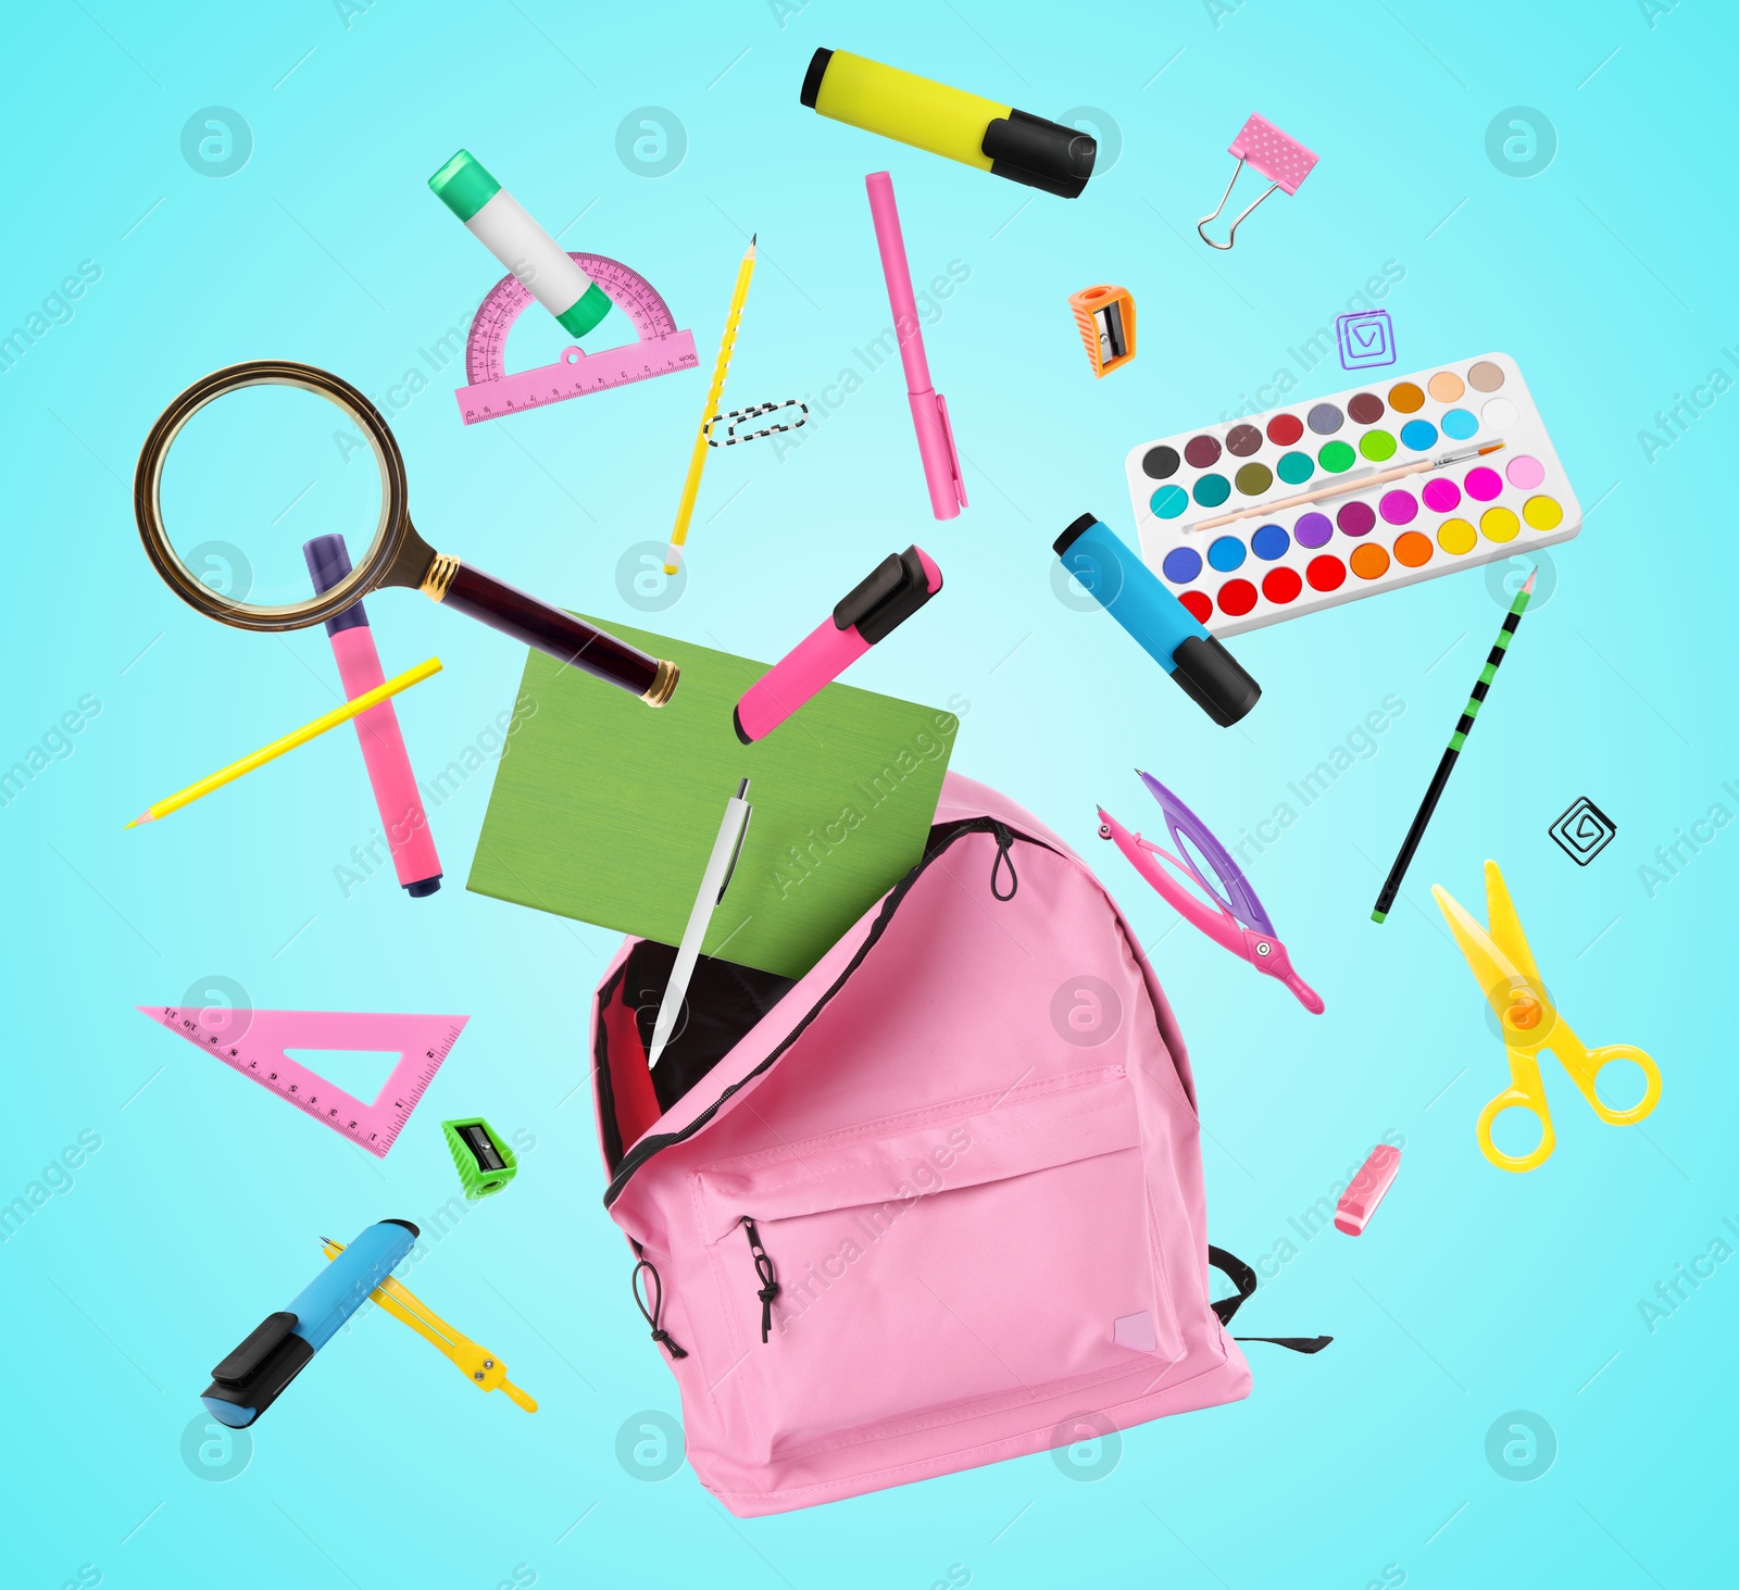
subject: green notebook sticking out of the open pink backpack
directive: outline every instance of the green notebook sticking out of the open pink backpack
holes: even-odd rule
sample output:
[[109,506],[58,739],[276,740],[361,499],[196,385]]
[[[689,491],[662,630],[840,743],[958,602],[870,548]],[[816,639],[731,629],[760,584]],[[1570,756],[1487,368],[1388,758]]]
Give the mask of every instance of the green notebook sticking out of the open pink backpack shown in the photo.
[[746,778],[755,816],[701,950],[803,976],[923,854],[960,720],[831,684],[746,746],[730,711],[765,663],[588,623],[676,663],[676,694],[654,710],[530,652],[466,887],[675,945]]

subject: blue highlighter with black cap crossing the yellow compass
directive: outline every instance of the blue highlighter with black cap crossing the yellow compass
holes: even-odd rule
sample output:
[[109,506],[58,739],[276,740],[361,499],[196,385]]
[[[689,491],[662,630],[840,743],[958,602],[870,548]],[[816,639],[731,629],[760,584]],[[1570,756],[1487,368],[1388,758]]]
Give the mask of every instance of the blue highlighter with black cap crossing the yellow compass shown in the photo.
[[200,1402],[231,1430],[245,1430],[325,1346],[410,1253],[417,1228],[409,1219],[369,1226],[327,1265],[290,1306],[268,1315],[259,1329],[212,1371]]

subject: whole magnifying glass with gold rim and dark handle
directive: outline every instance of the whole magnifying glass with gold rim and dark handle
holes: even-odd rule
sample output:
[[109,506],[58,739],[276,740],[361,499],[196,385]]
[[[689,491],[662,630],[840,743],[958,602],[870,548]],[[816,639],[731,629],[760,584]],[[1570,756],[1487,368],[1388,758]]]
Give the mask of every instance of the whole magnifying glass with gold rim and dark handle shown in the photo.
[[[395,397],[421,390],[416,374]],[[195,381],[144,438],[132,506],[163,583],[238,630],[304,630],[405,585],[649,706],[676,689],[675,663],[435,551],[410,524],[405,461],[386,421],[315,365],[256,358]],[[313,593],[301,544],[334,531],[365,551]]]

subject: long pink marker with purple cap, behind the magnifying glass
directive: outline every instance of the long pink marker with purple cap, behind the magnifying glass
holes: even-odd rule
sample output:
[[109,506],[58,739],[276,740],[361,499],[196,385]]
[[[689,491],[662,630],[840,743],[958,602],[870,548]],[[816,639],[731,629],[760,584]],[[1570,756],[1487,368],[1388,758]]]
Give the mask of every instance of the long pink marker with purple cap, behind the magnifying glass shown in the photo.
[[[343,536],[315,536],[303,544],[308,572],[316,591],[329,591],[350,574],[350,550]],[[327,637],[332,656],[337,658],[337,677],[344,684],[344,698],[355,701],[367,691],[386,682],[381,654],[374,649],[374,631],[362,602],[353,602],[337,618],[327,619]],[[410,771],[405,738],[398,732],[398,713],[391,701],[370,706],[356,718],[356,739],[362,760],[374,785],[374,804],[381,809],[381,828],[393,852],[398,882],[412,899],[423,899],[440,889],[440,856],[430,833],[417,779]]]

